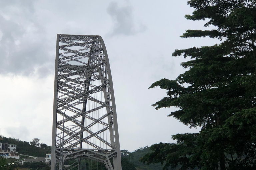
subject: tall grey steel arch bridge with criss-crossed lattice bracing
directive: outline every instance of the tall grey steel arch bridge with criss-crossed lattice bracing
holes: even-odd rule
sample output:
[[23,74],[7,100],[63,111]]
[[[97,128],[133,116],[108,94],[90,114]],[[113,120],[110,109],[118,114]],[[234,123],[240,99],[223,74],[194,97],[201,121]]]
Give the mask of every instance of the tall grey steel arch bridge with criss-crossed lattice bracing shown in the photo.
[[121,170],[113,83],[100,36],[57,35],[51,155],[51,170]]

